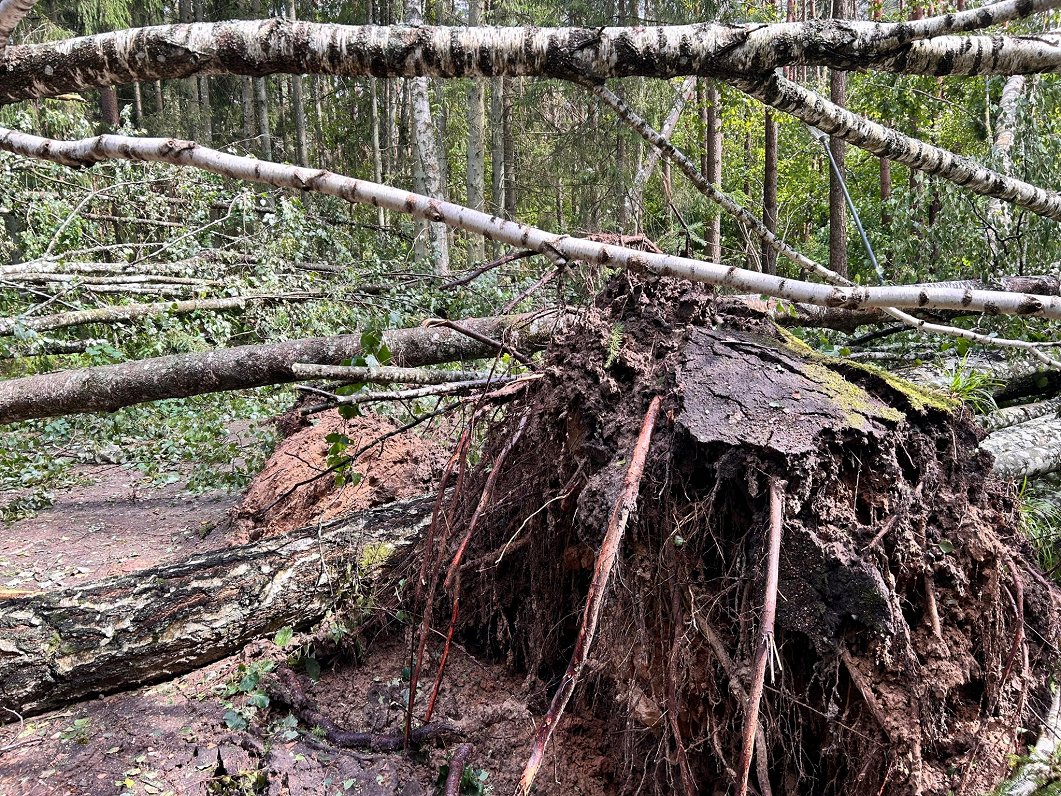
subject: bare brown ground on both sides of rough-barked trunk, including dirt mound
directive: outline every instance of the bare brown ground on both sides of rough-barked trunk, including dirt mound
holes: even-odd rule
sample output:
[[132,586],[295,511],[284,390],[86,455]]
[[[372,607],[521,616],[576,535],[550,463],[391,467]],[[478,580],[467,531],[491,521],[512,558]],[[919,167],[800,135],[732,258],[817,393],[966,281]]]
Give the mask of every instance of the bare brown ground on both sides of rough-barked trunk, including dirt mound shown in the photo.
[[[84,485],[5,529],[0,596],[128,574],[242,543],[263,532],[282,533],[317,518],[428,491],[443,448],[405,435],[388,440],[383,455],[359,465],[359,484],[336,489],[334,477],[326,475],[269,508],[260,527],[250,521],[292,484],[321,470],[328,434],[345,431],[356,446],[387,428],[376,418],[362,418],[351,428],[337,416],[326,416],[281,443],[242,500],[223,491],[189,496],[182,483],[144,485],[138,472],[121,466],[85,466],[80,470]],[[285,714],[278,711],[251,721],[245,731],[233,731],[225,721],[232,707],[231,694],[226,695],[231,683],[248,669],[263,671],[284,658],[275,643],[262,641],[169,681],[0,726],[0,796],[438,792],[455,741],[413,757],[344,750],[312,734],[291,732],[291,721],[284,724]],[[360,663],[341,660],[345,662],[326,667],[317,682],[301,678],[308,696],[343,727],[397,731],[405,645],[381,638]],[[485,777],[484,785],[511,792],[535,730],[528,706],[540,712],[544,698],[528,693],[505,667],[456,650],[436,717],[467,728],[463,740],[474,748],[470,765]],[[575,717],[558,743],[566,749],[563,760],[542,777],[540,792],[605,793],[611,762],[599,723]]]

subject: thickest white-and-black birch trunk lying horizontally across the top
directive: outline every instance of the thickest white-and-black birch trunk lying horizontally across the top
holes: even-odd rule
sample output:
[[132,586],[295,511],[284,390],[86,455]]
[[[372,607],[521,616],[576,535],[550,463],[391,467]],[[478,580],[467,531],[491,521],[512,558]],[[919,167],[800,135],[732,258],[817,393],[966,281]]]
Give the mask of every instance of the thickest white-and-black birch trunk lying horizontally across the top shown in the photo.
[[820,20],[474,30],[280,20],[157,25],[11,47],[0,100],[15,102],[143,80],[280,72],[593,81],[695,74],[729,81],[808,64],[904,74],[1029,74],[1061,69],[1061,33],[944,34],[979,30],[1058,5],[1059,0],[1004,0],[959,14],[889,23]]

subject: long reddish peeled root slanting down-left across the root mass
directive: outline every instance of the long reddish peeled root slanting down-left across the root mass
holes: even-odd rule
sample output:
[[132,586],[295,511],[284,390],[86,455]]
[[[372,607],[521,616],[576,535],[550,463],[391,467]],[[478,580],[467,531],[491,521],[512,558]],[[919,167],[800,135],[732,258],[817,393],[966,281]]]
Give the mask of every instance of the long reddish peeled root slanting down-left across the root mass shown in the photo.
[[651,444],[653,431],[656,428],[656,419],[659,417],[660,404],[662,400],[659,396],[653,398],[645,413],[644,422],[641,426],[641,433],[638,435],[637,445],[630,456],[630,464],[626,468],[626,478],[623,481],[623,491],[615,501],[608,520],[608,530],[605,533],[604,541],[601,543],[601,552],[597,554],[596,564],[593,567],[593,579],[590,582],[589,593],[586,596],[586,607],[582,611],[582,621],[578,627],[578,636],[575,639],[575,650],[571,654],[571,662],[568,671],[563,674],[560,688],[553,695],[553,702],[549,706],[538,730],[535,732],[534,746],[530,750],[530,758],[523,768],[523,776],[520,777],[520,792],[523,796],[528,796],[530,788],[534,785],[535,777],[541,767],[545,757],[545,747],[549,745],[553,731],[560,723],[563,709],[568,706],[568,700],[578,685],[578,679],[589,657],[590,646],[593,637],[596,635],[597,622],[601,619],[601,609],[604,607],[605,594],[608,590],[608,581],[611,578],[612,570],[615,568],[615,559],[619,557],[619,548],[623,541],[623,533],[626,531],[626,522],[630,517],[638,501],[638,492],[641,487],[641,478],[645,469],[645,460],[648,457],[648,448]]

